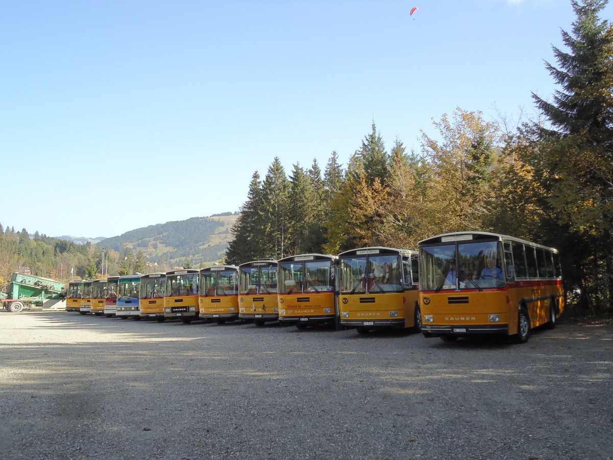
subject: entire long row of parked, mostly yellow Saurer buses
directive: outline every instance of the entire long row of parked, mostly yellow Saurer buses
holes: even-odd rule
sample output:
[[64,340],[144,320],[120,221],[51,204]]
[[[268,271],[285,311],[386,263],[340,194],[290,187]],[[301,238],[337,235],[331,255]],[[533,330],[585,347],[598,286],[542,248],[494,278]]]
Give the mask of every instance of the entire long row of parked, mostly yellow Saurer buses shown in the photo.
[[410,328],[445,341],[476,334],[526,342],[565,308],[558,251],[489,232],[455,232],[417,251],[365,247],[69,283],[66,310],[157,321],[267,321]]

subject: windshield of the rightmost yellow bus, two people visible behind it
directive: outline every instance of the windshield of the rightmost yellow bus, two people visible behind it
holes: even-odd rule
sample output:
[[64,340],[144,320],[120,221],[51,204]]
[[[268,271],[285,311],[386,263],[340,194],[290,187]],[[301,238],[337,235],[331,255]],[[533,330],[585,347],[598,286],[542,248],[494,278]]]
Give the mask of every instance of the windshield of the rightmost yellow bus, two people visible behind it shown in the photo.
[[447,243],[422,247],[424,290],[500,288],[505,285],[499,241]]

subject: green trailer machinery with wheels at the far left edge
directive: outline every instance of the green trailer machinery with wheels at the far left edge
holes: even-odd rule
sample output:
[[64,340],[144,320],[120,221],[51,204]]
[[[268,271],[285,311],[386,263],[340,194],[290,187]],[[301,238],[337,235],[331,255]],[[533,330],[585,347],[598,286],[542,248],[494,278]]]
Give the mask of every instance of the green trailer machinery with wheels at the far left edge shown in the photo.
[[49,278],[35,277],[23,273],[13,273],[6,293],[0,295],[0,302],[9,312],[23,309],[62,308],[66,299],[62,292],[66,285]]

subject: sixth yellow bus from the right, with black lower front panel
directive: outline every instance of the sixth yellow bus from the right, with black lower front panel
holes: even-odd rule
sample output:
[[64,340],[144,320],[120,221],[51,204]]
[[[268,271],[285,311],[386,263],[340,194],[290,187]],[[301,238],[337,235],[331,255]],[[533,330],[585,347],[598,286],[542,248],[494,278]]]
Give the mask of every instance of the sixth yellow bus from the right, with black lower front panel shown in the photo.
[[189,324],[198,319],[199,270],[172,270],[166,273],[164,318]]

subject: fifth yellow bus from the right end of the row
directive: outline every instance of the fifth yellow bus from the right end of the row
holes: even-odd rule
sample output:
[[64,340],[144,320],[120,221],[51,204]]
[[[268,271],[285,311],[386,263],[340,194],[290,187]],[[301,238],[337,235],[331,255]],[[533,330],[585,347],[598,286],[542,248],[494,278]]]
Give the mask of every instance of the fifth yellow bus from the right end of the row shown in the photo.
[[238,320],[238,267],[219,265],[200,270],[200,318],[217,324]]

